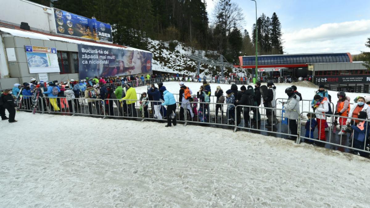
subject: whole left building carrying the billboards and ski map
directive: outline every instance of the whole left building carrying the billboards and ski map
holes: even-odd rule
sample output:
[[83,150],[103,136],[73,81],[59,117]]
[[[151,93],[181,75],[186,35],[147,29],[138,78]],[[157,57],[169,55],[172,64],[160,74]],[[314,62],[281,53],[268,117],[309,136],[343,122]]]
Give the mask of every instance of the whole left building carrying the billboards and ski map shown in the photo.
[[152,53],[114,44],[110,24],[27,0],[0,3],[0,89],[31,77],[67,81],[152,73]]

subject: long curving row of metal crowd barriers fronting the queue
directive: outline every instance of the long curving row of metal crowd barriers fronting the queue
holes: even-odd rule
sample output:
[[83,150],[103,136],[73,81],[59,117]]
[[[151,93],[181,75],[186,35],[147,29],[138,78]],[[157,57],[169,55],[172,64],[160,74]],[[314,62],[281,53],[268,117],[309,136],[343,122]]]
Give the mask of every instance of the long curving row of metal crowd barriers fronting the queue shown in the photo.
[[[129,101],[133,101],[133,103],[128,104],[131,103]],[[39,97],[36,100],[34,99],[34,96],[24,96],[23,101],[20,104],[20,110],[31,112],[33,111],[33,107],[37,103],[36,112],[38,113],[82,115],[101,118],[130,118],[141,119],[141,121],[164,122],[166,117],[166,108],[161,105],[161,101],[145,102],[146,106],[142,105],[140,100],[101,100],[98,98],[73,98],[68,100],[68,98],[66,97]],[[218,108],[216,108],[215,106],[217,106]],[[299,115],[297,119],[297,124],[293,123],[293,127],[296,127],[297,132],[292,132],[290,125],[290,122],[294,122],[295,120],[289,120],[285,118],[285,113],[288,111],[295,112],[297,113],[297,115]],[[258,118],[256,114],[258,114],[259,112],[265,113],[260,113],[260,118]],[[268,135],[274,134],[276,137],[278,137],[277,135],[285,135],[290,136],[291,138],[296,138],[297,144],[299,144],[301,141],[314,141],[317,143],[333,145],[337,148],[347,148],[349,150],[360,151],[366,154],[370,153],[368,149],[369,144],[367,144],[367,140],[369,137],[369,134],[367,132],[370,131],[368,125],[364,126],[366,132],[364,136],[364,141],[359,141],[358,138],[354,137],[353,131],[350,136],[348,135],[349,133],[342,135],[333,134],[333,128],[337,128],[335,125],[335,121],[338,119],[342,119],[339,124],[339,131],[341,131],[342,127],[346,126],[343,120],[348,119],[349,117],[330,115],[331,125],[329,125],[329,133],[326,132],[327,136],[325,136],[325,139],[320,140],[322,136],[318,136],[319,139],[316,139],[311,136],[311,131],[313,131],[313,135],[321,133],[323,131],[322,125],[319,125],[321,127],[320,131],[316,130],[316,128],[314,130],[310,129],[308,134],[309,137],[305,135],[306,132],[301,131],[302,123],[304,121],[307,121],[307,118],[305,117],[305,114],[307,113],[312,115],[323,115],[322,113],[316,113],[312,111],[303,111],[302,113],[299,113],[297,111],[287,110],[284,108],[267,108],[248,105],[235,106],[228,103],[189,102],[187,104],[184,104],[176,102],[176,110],[174,116],[176,117],[177,121],[184,123],[184,125],[207,124],[211,127],[231,127],[234,131],[236,131],[237,129],[244,129],[251,132],[266,132],[268,133]],[[221,117],[219,117],[220,114]],[[226,117],[224,117],[224,115],[226,115]],[[171,114],[171,117],[172,116],[173,114]],[[252,121],[252,117],[257,118],[256,120],[260,121]],[[276,119],[274,119],[273,117],[276,117]],[[370,123],[370,120],[363,120],[358,118],[351,118],[351,120],[366,121]],[[269,121],[270,124],[273,123],[273,125],[266,127],[267,121]],[[320,122],[324,122],[324,120]]]

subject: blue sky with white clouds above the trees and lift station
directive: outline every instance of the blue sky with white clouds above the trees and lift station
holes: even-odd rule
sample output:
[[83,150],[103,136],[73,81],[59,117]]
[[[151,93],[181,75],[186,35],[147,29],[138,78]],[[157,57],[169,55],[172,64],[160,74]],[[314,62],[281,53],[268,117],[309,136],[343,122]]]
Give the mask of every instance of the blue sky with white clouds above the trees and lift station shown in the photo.
[[[217,0],[206,0],[207,11]],[[232,0],[243,9],[242,29],[249,33],[255,23],[255,3]],[[257,0],[257,15],[276,12],[282,24],[286,53],[329,53],[370,51],[364,44],[370,37],[370,0]],[[210,17],[212,19],[212,17]]]

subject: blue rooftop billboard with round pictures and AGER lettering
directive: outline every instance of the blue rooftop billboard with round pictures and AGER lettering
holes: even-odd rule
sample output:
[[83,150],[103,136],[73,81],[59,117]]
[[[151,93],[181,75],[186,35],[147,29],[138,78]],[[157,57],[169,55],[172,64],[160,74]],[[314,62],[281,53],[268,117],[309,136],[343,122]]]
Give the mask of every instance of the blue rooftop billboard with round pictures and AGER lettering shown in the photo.
[[54,19],[57,34],[110,43],[113,41],[110,24],[55,8]]

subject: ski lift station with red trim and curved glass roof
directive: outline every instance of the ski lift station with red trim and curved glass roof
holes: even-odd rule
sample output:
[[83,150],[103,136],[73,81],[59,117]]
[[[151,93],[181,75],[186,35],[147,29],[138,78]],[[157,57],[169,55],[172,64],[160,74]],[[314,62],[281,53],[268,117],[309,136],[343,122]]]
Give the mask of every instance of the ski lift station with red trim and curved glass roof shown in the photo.
[[[240,56],[242,68],[255,69],[255,56]],[[350,53],[282,54],[258,56],[260,77],[307,77],[336,91],[369,93],[370,72]]]

